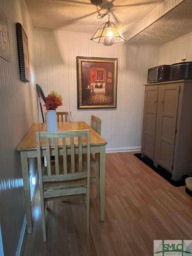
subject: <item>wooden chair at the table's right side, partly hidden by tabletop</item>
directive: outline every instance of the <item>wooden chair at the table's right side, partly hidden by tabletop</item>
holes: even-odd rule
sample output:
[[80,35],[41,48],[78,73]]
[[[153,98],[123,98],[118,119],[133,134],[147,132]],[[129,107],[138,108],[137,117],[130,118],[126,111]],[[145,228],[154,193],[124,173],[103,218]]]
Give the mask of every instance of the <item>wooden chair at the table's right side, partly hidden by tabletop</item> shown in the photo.
[[[101,119],[97,116],[91,115],[91,128],[96,131],[99,135],[101,135]],[[90,156],[90,166],[95,170],[95,176],[91,177],[91,181],[96,177],[96,190],[97,196],[100,194],[100,184],[99,184],[99,166],[97,166],[95,154],[91,154]]]

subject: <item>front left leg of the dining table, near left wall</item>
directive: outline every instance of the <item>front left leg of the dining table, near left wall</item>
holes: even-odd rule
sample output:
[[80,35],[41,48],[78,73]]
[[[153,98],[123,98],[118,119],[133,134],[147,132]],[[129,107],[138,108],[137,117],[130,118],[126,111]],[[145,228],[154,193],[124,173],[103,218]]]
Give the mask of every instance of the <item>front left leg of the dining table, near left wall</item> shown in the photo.
[[30,193],[30,178],[27,152],[21,151],[21,168],[23,175],[23,189],[25,198],[25,211],[27,219],[27,233],[32,233],[32,218],[31,218],[31,193]]

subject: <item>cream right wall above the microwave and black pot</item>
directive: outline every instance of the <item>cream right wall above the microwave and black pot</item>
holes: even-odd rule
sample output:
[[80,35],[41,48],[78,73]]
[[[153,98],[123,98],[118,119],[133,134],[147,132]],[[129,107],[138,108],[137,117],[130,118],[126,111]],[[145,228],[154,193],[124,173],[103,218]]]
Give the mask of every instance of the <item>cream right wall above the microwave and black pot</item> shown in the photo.
[[160,47],[158,65],[181,62],[181,59],[192,61],[192,33],[182,36]]

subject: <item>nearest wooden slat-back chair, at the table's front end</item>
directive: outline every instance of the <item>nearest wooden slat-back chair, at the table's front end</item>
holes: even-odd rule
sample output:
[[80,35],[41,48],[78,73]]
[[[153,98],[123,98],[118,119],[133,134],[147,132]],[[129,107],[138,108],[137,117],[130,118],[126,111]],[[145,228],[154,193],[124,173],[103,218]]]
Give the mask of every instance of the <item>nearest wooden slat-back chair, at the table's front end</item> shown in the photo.
[[[87,140],[85,140],[84,136]],[[46,143],[45,155],[47,157],[47,167],[42,167],[41,163],[41,139],[44,139]],[[69,139],[71,154],[67,155],[68,148],[66,144],[69,143],[66,143],[66,140],[69,141]],[[59,144],[62,146],[58,147],[58,142],[60,142]],[[70,132],[37,132],[36,143],[43,241],[46,242],[45,203],[48,199],[53,200],[57,197],[86,194],[86,231],[89,233],[90,130]],[[87,148],[86,163],[82,161],[83,143],[84,146],[86,143]],[[78,148],[78,155],[75,155],[75,150],[77,150],[76,148]],[[51,155],[55,156],[54,163],[51,163],[50,161]],[[78,161],[75,161],[75,156],[77,156]]]

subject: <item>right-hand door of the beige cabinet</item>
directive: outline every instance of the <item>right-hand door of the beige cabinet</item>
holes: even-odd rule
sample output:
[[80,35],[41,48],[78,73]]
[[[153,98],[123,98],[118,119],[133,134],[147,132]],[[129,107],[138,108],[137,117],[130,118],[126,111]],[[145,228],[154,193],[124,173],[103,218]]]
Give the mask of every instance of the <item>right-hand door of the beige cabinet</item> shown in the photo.
[[172,171],[180,85],[159,86],[154,165]]

